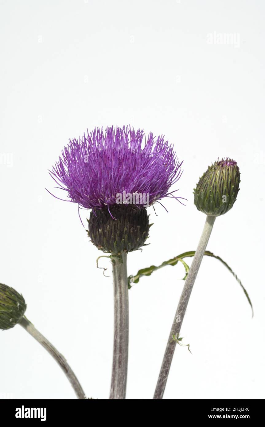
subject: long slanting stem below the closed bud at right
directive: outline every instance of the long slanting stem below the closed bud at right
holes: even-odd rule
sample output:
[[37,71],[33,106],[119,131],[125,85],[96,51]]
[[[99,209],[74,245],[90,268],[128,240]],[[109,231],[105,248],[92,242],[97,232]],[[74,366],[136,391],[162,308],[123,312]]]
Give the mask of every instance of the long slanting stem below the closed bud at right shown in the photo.
[[201,265],[201,260],[204,256],[204,252],[205,252],[210,234],[212,232],[214,222],[215,222],[215,216],[207,216],[204,229],[201,234],[201,239],[199,241],[198,248],[192,260],[189,274],[186,278],[186,281],[181,293],[181,298],[178,303],[178,308],[175,314],[174,322],[172,324],[172,328],[169,334],[169,340],[166,345],[166,351],[165,351],[162,366],[160,369],[160,374],[157,380],[157,386],[154,392],[154,399],[163,398],[163,394],[166,387],[166,381],[169,375],[169,369],[171,366],[173,354],[174,354],[176,343],[177,343],[173,339],[173,336],[178,337],[178,334],[180,333],[181,325],[182,325],[186,308],[189,302],[189,297],[192,291],[192,287],[194,285],[194,282],[198,273],[198,269]]

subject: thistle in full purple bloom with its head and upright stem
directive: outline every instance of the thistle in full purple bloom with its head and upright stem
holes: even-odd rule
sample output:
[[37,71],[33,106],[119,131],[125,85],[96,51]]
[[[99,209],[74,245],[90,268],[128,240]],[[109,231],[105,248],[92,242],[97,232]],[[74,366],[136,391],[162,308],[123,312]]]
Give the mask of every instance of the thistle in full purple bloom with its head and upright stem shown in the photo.
[[[114,281],[114,354],[110,399],[125,399],[128,365],[128,252],[146,245],[146,208],[165,197],[181,164],[163,136],[143,130],[94,129],[70,140],[50,170],[70,202],[91,209],[88,235],[110,254]],[[175,190],[176,191],[176,190]],[[180,200],[178,200],[180,201]]]

